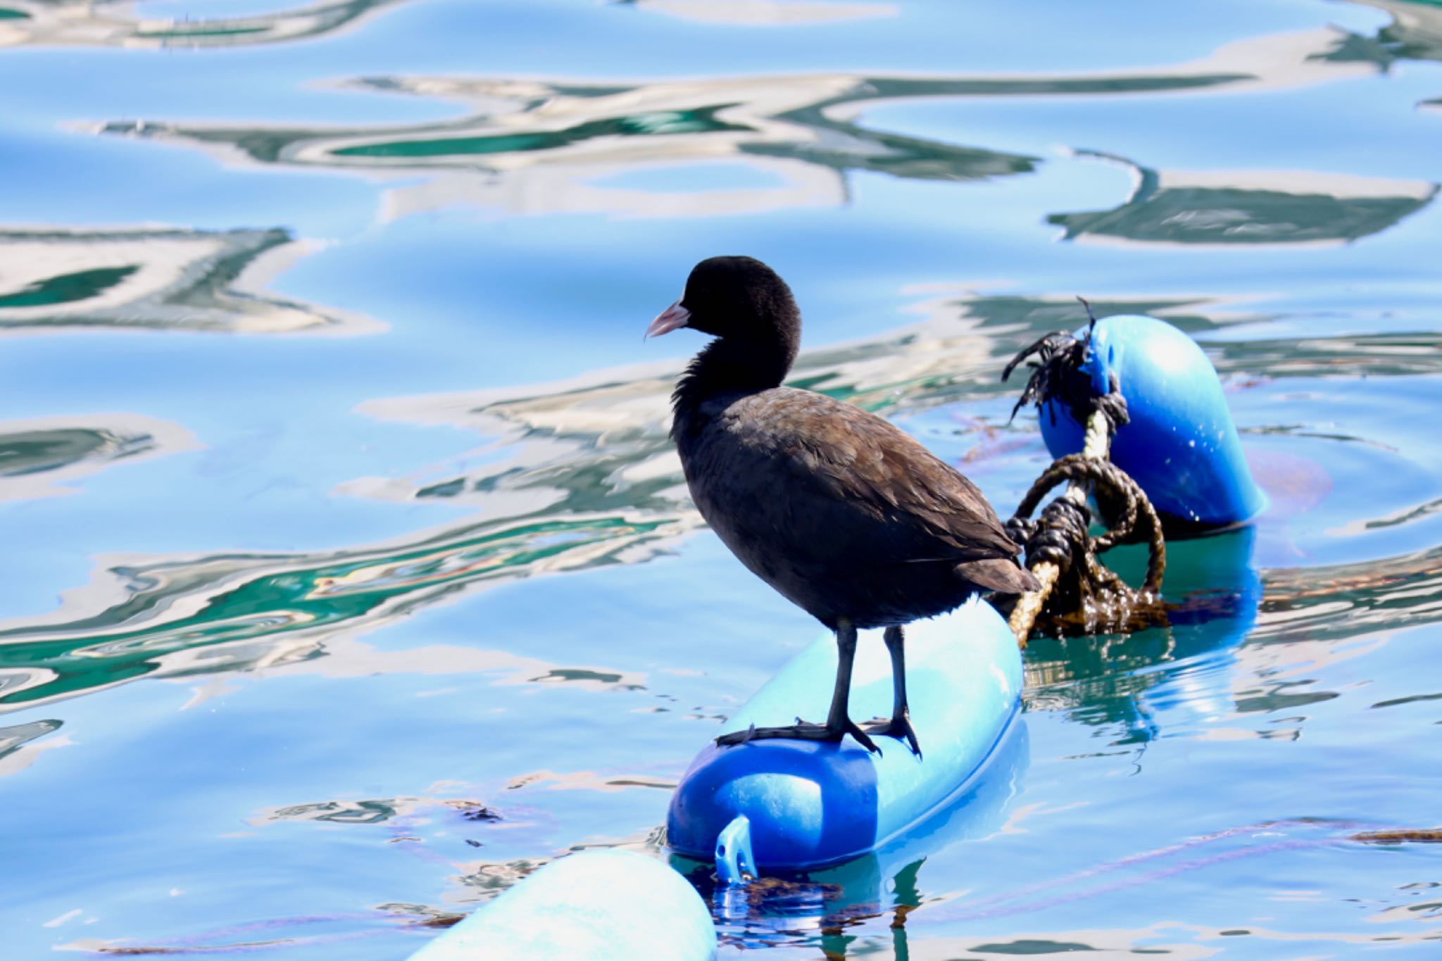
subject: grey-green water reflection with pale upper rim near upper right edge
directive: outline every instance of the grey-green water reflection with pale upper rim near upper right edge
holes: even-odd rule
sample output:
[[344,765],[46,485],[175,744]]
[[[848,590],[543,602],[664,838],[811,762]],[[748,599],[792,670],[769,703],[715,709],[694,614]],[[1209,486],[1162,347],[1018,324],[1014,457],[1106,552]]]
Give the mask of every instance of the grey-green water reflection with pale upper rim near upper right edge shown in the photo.
[[1355,241],[1416,213],[1438,187],[1416,180],[1270,170],[1151,170],[1120,157],[1136,187],[1110,210],[1054,213],[1066,239],[1139,243],[1314,243]]

